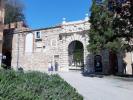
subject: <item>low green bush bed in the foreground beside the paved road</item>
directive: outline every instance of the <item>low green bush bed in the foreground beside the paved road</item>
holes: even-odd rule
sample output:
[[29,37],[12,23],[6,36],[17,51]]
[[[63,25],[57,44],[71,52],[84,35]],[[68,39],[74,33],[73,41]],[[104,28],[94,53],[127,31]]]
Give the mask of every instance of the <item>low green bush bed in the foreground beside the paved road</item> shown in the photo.
[[0,100],[83,100],[58,75],[0,70]]

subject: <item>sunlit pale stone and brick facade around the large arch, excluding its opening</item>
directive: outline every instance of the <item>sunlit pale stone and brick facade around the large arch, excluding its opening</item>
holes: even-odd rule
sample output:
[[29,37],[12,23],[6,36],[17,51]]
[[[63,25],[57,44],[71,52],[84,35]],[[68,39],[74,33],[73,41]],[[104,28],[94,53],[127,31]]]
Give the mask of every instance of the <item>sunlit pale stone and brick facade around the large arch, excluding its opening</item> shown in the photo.
[[[21,32],[17,29],[13,36],[12,66],[24,70],[47,71],[48,63],[59,64],[59,71],[68,71],[68,46],[73,41],[80,41],[84,47],[84,64],[86,64],[88,30],[90,23],[86,20],[66,22],[61,25]],[[39,32],[39,38],[36,38]]]

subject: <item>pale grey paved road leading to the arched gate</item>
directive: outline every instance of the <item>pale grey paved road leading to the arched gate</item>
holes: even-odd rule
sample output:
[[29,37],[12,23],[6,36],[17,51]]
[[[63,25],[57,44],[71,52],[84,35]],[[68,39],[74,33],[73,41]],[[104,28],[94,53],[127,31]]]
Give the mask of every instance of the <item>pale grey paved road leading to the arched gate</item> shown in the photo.
[[84,96],[84,100],[133,100],[133,79],[114,76],[85,77],[80,72],[59,75]]

